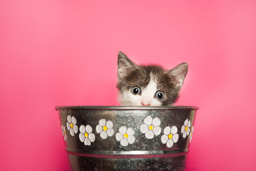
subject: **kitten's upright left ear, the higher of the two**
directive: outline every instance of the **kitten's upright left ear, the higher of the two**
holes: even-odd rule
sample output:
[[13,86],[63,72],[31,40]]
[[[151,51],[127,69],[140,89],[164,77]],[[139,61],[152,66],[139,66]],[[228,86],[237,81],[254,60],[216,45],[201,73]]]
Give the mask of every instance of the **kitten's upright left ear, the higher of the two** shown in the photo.
[[118,52],[117,65],[118,78],[124,77],[127,71],[136,68],[136,65],[123,52]]

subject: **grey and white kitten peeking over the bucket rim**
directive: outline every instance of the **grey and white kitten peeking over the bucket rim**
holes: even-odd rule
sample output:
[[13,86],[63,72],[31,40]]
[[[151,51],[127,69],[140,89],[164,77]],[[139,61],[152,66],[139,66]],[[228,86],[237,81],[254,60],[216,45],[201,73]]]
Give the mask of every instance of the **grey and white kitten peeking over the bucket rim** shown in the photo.
[[119,103],[123,106],[169,106],[177,102],[188,64],[171,70],[159,65],[136,65],[123,52],[118,53]]

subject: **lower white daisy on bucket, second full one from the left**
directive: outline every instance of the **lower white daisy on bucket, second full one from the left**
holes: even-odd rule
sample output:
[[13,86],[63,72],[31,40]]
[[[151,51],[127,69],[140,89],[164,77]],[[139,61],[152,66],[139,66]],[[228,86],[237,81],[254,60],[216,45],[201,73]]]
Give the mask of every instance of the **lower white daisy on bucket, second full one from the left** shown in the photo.
[[79,139],[81,142],[84,142],[84,145],[91,145],[91,142],[95,141],[95,135],[92,133],[93,128],[90,125],[81,125],[79,131]]

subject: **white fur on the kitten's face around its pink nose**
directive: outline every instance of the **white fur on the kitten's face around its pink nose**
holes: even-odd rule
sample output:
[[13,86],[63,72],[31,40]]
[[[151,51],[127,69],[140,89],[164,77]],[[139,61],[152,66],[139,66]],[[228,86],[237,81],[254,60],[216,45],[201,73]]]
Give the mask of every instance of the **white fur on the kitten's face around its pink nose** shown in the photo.
[[150,77],[150,82],[145,88],[141,88],[141,93],[134,95],[131,90],[122,94],[121,105],[124,106],[161,106],[161,103],[155,98],[157,92],[157,83]]

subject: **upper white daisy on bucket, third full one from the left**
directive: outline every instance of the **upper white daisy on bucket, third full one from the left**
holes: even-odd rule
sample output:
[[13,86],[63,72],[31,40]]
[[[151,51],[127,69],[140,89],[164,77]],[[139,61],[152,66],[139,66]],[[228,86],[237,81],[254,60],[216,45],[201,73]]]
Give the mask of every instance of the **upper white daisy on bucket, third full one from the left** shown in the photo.
[[114,135],[113,122],[106,121],[105,119],[99,120],[99,124],[96,126],[96,132],[100,133],[102,139],[112,137]]

